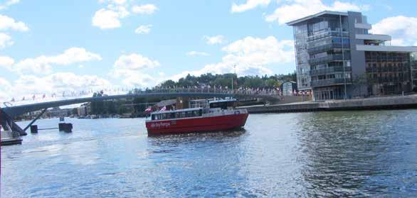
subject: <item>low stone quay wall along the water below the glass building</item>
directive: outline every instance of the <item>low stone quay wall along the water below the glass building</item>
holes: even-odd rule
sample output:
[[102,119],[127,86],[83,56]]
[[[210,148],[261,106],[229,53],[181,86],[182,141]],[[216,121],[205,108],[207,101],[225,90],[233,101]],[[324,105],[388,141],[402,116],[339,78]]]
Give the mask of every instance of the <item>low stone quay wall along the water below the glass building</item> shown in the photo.
[[250,114],[284,113],[307,111],[347,111],[367,109],[411,109],[417,108],[417,94],[397,97],[371,97],[331,101],[306,101],[290,104],[241,106]]

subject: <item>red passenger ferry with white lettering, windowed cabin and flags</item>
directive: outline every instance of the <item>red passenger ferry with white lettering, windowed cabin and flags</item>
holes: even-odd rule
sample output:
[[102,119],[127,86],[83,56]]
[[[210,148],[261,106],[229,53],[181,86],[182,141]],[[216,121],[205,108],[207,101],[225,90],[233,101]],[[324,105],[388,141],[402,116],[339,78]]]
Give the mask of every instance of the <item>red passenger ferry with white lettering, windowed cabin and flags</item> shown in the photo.
[[153,112],[146,121],[148,135],[227,131],[245,126],[246,109],[235,109],[236,100],[209,101],[209,107]]

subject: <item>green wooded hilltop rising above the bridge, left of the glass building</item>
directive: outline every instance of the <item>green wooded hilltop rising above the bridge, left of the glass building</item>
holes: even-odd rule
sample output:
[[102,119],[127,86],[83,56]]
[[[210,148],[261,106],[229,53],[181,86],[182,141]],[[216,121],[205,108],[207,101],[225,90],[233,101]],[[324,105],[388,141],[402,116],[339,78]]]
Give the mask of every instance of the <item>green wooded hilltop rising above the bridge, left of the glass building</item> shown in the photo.
[[271,76],[244,76],[237,77],[236,74],[213,75],[207,73],[199,77],[187,75],[180,78],[177,82],[169,79],[159,87],[222,87],[231,89],[233,77],[233,87],[236,88],[275,88],[288,81],[297,82],[295,72],[287,75],[271,75]]

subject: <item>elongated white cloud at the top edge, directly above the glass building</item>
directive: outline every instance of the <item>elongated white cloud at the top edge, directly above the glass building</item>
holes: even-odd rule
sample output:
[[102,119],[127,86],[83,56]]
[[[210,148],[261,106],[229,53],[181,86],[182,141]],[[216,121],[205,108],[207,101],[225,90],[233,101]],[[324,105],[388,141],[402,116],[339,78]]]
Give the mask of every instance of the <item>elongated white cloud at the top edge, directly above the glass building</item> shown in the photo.
[[366,11],[369,9],[367,5],[357,5],[342,1],[334,1],[329,6],[322,2],[322,0],[287,0],[280,4],[275,11],[265,16],[265,21],[278,21],[283,25],[289,21],[296,20],[305,16],[309,16],[321,11]]

